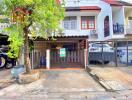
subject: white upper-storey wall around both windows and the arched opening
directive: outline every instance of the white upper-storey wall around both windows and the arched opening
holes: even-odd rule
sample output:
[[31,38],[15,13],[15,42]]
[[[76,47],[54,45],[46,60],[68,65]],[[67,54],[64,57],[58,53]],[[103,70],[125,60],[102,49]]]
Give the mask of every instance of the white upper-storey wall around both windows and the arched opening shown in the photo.
[[[69,0],[67,0],[69,1]],[[74,0],[72,0],[74,1]],[[95,30],[98,34],[97,40],[106,40],[110,39],[113,35],[113,22],[112,22],[112,9],[111,6],[100,0],[81,0],[81,2],[66,2],[66,7],[79,7],[79,6],[98,6],[101,8],[101,11],[92,11],[92,12],[65,12],[65,16],[77,16],[77,29],[76,30],[64,30],[65,35],[89,35],[90,30],[81,30],[81,16],[95,16]],[[110,36],[104,37],[104,19],[106,16],[109,16],[109,27],[110,27]],[[63,23],[61,22],[61,27]]]

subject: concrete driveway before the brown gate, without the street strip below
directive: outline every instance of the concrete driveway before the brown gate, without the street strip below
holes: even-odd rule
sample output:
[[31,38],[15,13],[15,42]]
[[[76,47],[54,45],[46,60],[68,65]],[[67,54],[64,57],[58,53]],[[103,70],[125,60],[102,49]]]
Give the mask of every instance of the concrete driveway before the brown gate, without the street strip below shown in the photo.
[[85,70],[44,70],[41,74],[40,80],[27,85],[13,84],[0,91],[0,96],[105,91]]

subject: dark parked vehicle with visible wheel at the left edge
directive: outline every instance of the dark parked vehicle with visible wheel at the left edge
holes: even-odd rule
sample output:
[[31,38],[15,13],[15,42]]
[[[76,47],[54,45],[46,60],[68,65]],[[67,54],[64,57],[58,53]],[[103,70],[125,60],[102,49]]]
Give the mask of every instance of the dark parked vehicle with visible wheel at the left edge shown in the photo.
[[15,59],[7,56],[7,49],[0,48],[0,68],[12,68],[15,66]]

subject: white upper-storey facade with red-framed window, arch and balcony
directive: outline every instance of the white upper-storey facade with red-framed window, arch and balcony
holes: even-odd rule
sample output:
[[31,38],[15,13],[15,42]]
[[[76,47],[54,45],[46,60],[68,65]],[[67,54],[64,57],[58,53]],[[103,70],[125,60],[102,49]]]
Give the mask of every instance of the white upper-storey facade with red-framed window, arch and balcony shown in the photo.
[[66,36],[88,35],[89,41],[125,39],[132,34],[132,4],[114,0],[65,0],[61,22]]

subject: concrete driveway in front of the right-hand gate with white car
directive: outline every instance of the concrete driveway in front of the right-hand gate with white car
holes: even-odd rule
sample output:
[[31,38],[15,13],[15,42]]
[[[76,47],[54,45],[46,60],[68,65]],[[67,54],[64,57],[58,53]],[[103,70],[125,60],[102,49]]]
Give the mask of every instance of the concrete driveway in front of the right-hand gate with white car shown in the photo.
[[90,67],[90,69],[107,89],[114,91],[132,89],[132,70],[129,67]]

